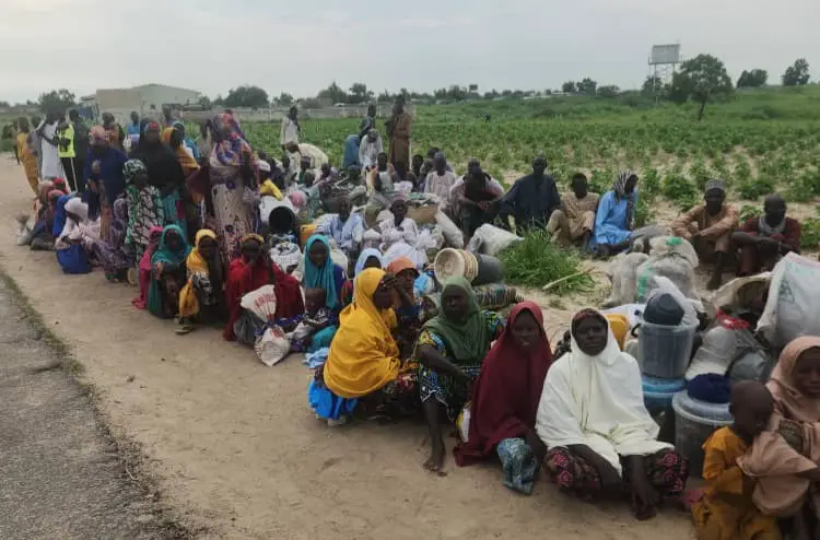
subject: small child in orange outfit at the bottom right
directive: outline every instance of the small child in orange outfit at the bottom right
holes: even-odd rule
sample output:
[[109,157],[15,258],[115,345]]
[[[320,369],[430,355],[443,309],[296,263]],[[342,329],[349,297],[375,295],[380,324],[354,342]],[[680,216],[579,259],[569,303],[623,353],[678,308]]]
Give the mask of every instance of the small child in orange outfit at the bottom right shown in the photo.
[[774,399],[757,380],[743,380],[731,389],[731,426],[717,430],[703,445],[703,497],[692,505],[700,540],[781,540],[774,517],[764,516],[752,501],[754,481],[737,460],[766,427]]

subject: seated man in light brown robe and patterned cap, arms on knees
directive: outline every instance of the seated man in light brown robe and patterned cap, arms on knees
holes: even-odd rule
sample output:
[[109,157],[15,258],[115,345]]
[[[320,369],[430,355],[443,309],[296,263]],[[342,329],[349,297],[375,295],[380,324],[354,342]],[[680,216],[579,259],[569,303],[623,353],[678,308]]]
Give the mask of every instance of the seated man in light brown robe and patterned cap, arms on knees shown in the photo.
[[738,226],[737,210],[726,204],[726,183],[708,180],[704,202],[698,204],[672,222],[672,234],[689,240],[698,257],[715,269],[706,285],[710,291],[721,286],[723,271],[728,262],[731,233]]

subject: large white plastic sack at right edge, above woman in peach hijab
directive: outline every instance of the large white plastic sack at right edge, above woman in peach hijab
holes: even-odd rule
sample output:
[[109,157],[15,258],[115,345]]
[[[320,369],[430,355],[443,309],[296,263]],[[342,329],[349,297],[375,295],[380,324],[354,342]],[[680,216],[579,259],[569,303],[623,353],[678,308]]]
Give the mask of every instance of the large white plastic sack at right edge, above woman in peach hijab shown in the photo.
[[758,330],[775,349],[782,349],[800,336],[820,336],[820,262],[786,255],[772,271],[763,315]]

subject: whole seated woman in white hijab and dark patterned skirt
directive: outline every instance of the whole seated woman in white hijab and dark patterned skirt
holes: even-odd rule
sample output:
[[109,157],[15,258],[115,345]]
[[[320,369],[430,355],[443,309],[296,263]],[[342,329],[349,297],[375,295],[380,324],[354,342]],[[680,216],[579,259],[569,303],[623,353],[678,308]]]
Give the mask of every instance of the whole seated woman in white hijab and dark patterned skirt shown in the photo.
[[629,494],[635,517],[648,519],[661,497],[683,491],[687,461],[656,441],[637,362],[621,352],[604,315],[577,313],[571,333],[572,350],[550,367],[538,407],[547,472],[585,498]]

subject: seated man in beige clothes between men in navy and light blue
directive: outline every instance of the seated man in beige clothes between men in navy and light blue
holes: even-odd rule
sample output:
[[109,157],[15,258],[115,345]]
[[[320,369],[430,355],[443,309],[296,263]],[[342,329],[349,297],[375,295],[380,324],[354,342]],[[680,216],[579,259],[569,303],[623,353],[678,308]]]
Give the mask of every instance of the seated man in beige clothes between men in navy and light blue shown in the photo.
[[572,191],[561,198],[561,209],[552,212],[547,232],[561,246],[566,247],[581,240],[581,246],[587,247],[595,228],[595,212],[599,200],[598,193],[589,192],[586,176],[576,173],[572,177]]

